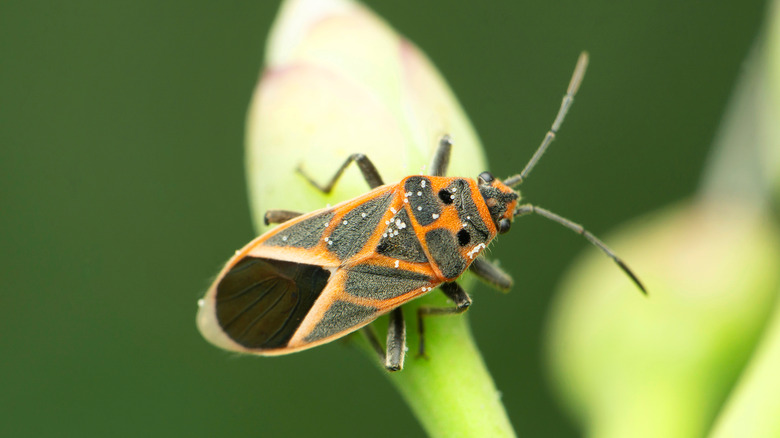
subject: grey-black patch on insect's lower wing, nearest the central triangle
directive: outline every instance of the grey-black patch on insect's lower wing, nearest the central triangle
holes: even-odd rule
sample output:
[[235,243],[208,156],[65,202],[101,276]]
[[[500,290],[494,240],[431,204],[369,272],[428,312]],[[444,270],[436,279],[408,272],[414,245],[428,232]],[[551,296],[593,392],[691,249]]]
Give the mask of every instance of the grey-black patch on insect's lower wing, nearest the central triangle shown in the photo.
[[349,268],[344,291],[350,295],[387,300],[431,284],[424,274],[375,265],[356,265]]

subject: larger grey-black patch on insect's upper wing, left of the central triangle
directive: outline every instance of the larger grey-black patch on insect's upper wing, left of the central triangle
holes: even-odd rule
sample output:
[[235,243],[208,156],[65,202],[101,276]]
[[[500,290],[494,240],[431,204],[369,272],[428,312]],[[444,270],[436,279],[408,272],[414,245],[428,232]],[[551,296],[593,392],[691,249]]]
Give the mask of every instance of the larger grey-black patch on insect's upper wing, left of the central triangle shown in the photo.
[[392,198],[392,192],[378,196],[345,214],[328,236],[328,249],[340,260],[357,254],[379,225]]

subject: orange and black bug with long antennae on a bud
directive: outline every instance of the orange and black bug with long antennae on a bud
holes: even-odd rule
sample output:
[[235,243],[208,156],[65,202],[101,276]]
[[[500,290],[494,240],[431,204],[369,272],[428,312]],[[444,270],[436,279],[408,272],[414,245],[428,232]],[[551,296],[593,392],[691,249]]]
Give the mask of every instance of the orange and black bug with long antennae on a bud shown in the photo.
[[[227,350],[259,355],[293,353],[363,328],[388,370],[403,367],[406,328],[401,306],[435,288],[454,307],[420,307],[419,353],[424,318],[465,311],[471,299],[457,283],[467,269],[500,289],[512,278],[481,257],[518,216],[535,213],[583,235],[612,258],[644,292],[639,279],[606,245],[580,225],[543,208],[520,204],[520,185],[552,143],[587,67],[582,53],[550,131],[523,171],[504,181],[489,172],[476,180],[444,176],[452,143],[445,136],[430,175],[385,185],[371,161],[350,156],[325,186],[329,192],[355,162],[371,191],[307,214],[271,210],[266,223],[281,223],[227,262],[200,300],[198,327]],[[367,324],[389,313],[386,347]]]

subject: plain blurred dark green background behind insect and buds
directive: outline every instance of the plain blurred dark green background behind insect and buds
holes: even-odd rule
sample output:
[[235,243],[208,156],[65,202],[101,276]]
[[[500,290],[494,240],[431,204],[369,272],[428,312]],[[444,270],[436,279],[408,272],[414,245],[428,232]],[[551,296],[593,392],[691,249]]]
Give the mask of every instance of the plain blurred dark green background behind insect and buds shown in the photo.
[[[525,164],[502,156],[530,156],[590,52],[523,193],[596,234],[692,193],[765,12],[762,1],[366,3],[436,63],[496,175]],[[277,7],[0,3],[0,435],[422,435],[354,348],[244,358],[195,329],[196,300],[254,236],[243,122]],[[585,246],[523,219],[492,252],[514,290],[472,293],[474,335],[521,435],[578,435],[548,389],[541,342],[551,291]]]

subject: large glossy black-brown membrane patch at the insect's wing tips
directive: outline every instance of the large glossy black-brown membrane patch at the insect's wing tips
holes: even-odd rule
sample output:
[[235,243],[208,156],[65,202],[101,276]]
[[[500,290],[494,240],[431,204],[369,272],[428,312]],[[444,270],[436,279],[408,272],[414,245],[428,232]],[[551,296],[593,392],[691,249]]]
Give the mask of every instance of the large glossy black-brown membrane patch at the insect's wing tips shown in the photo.
[[287,345],[330,277],[315,265],[246,257],[217,285],[217,320],[246,348]]

